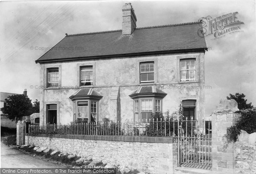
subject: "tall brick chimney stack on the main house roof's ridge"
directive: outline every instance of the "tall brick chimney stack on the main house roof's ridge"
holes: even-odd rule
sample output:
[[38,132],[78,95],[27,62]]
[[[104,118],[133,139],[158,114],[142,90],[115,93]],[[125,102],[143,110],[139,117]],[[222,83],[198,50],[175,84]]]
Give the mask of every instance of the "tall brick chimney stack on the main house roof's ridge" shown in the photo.
[[136,15],[131,3],[125,3],[122,7],[122,35],[131,35],[136,29]]

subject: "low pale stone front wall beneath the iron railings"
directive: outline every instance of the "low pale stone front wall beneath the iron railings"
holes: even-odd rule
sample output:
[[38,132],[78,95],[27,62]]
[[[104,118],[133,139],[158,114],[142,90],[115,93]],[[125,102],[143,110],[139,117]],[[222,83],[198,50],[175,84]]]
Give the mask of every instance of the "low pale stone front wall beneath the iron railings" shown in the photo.
[[[59,135],[57,136],[60,137]],[[73,136],[72,138],[76,139],[72,139],[55,138],[54,135],[51,137],[48,137],[48,135],[26,135],[26,144],[47,147],[69,154],[76,154],[81,157],[90,157],[93,160],[99,160],[103,163],[129,166],[151,174],[173,174],[173,169],[177,167],[177,143],[173,142],[170,137],[158,137],[159,139],[157,137],[115,137],[116,141],[114,140],[114,136],[105,136],[105,139],[109,138],[106,141],[96,140],[96,138],[81,139],[82,136]],[[130,141],[120,141],[120,139],[130,139]],[[136,140],[141,140],[141,142],[137,142]],[[155,142],[151,142],[153,140]],[[162,141],[162,143],[159,143],[159,141]]]

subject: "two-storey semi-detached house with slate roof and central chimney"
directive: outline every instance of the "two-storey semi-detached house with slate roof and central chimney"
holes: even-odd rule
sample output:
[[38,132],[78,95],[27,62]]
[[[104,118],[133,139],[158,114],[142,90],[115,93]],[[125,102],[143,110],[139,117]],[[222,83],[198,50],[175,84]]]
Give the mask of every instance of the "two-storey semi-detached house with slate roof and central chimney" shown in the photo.
[[200,22],[137,28],[131,3],[122,29],[68,35],[42,55],[40,124],[78,119],[125,122],[173,112],[204,118],[204,54]]

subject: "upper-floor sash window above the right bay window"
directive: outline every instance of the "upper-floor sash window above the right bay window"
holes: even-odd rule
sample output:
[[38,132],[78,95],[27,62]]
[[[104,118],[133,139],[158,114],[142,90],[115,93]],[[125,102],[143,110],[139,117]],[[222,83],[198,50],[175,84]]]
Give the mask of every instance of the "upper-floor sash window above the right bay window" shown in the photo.
[[154,82],[154,62],[140,63],[140,82]]

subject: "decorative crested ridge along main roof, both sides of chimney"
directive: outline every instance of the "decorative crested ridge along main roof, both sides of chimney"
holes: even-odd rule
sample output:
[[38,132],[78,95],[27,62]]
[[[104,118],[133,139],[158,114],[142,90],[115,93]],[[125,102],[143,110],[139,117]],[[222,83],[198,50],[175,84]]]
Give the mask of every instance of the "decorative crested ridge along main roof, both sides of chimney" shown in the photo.
[[[139,28],[136,28],[136,29],[153,29],[153,28],[162,28],[162,27],[169,27],[169,26],[192,25],[192,24],[199,24],[199,23],[201,23],[201,22],[187,22],[187,23],[177,23],[177,24],[160,25],[160,26],[144,26],[144,27],[139,27]],[[81,35],[94,35],[94,34],[111,33],[111,32],[122,32],[122,29],[109,30],[109,31],[102,31],[102,32],[79,33],[79,34],[71,34],[71,35],[68,35],[68,34],[66,33],[66,37],[70,37],[70,36],[81,36]]]

